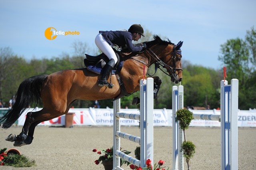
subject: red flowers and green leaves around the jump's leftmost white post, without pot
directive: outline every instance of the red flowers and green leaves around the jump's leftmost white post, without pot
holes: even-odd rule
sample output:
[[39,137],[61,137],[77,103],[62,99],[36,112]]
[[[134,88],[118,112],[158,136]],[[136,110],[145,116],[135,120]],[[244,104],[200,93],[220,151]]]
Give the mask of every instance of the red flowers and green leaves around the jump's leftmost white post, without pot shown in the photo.
[[[131,153],[127,150],[122,150],[122,148],[120,148],[120,151],[124,152],[127,155]],[[98,154],[102,154],[102,156],[100,156],[97,160],[94,161],[96,165],[100,164],[100,162],[104,163],[104,162],[112,162],[113,161],[113,147],[108,148],[106,150],[100,149],[100,151],[98,151],[97,149],[93,149],[92,152],[97,152]],[[121,158],[120,165],[122,166],[123,164],[129,165],[130,162]]]

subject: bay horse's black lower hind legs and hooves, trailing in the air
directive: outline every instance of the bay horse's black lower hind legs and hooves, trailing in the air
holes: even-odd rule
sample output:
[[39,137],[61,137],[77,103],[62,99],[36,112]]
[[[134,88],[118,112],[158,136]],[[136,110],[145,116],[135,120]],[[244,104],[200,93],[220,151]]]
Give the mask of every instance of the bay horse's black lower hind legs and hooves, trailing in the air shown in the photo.
[[22,128],[22,132],[16,136],[15,134],[10,134],[5,140],[14,142],[14,146],[24,146],[26,144],[30,144],[32,142],[31,137],[27,135],[28,129],[33,123],[34,118],[31,117],[32,112],[29,112],[26,116],[26,120],[24,126]]

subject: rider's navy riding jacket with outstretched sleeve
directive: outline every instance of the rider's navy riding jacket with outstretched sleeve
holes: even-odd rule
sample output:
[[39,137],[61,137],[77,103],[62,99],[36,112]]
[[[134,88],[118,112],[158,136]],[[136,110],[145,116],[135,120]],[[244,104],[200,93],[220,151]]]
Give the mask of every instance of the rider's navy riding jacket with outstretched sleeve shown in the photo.
[[129,51],[136,52],[142,50],[142,45],[133,46],[132,33],[128,31],[100,31],[105,40],[113,47],[113,44],[122,47],[127,45]]

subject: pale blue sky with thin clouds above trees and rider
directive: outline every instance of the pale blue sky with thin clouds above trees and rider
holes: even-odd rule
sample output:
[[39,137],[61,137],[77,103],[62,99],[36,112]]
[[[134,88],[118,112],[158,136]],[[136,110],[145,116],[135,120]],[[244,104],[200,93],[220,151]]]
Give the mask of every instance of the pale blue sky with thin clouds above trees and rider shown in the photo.
[[[99,30],[141,24],[173,43],[184,41],[182,57],[190,63],[220,69],[220,45],[256,28],[255,9],[256,0],[1,0],[0,47],[30,60],[72,56],[72,43],[83,42],[94,54]],[[48,40],[48,27],[80,34]]]

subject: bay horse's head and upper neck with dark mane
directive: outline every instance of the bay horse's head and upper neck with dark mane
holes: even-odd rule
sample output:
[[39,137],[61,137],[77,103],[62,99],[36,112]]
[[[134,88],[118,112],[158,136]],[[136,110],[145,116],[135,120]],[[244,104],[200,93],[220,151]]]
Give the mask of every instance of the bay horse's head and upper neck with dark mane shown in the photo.
[[148,53],[152,56],[152,63],[162,65],[171,77],[171,81],[178,83],[182,81],[182,65],[181,65],[181,49],[183,42],[177,45],[171,43],[170,40],[163,41],[159,36],[154,35],[151,42],[147,42]]

